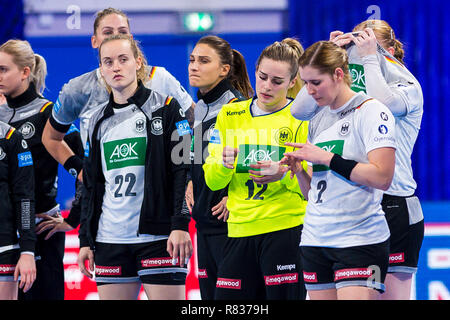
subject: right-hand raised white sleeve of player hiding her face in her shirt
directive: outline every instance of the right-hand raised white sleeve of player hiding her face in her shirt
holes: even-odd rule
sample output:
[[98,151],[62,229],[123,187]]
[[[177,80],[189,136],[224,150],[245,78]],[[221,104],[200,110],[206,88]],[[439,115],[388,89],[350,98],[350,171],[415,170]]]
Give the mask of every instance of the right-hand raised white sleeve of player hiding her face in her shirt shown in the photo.
[[[379,100],[386,105],[391,112],[399,117],[408,113],[408,102],[401,92],[401,86],[388,84],[381,73],[380,63],[376,55],[368,55],[362,58],[364,76],[366,79],[367,95]],[[404,86],[406,87],[406,85]]]

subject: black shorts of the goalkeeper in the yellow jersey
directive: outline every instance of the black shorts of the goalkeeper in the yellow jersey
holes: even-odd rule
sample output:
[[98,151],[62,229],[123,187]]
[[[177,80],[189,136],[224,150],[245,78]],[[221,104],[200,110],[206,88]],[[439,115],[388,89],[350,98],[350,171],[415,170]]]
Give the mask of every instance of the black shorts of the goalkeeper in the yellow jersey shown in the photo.
[[215,299],[304,299],[306,291],[299,277],[301,228],[228,238]]

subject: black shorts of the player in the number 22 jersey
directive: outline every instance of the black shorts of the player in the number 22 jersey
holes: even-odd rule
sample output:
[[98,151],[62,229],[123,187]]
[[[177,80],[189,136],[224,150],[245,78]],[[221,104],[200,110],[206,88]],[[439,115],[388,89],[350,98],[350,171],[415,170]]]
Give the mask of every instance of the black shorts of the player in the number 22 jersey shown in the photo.
[[172,264],[167,240],[139,244],[96,243],[94,253],[97,285],[142,282],[184,285],[187,267]]

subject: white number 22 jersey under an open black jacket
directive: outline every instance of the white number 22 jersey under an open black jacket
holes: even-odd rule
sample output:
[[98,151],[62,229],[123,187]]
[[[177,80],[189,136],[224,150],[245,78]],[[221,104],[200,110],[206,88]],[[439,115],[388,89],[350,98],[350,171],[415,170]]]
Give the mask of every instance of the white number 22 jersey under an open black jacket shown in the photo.
[[105,194],[96,241],[144,243],[167,239],[138,235],[144,198],[146,117],[135,105],[114,109],[114,113],[99,129]]

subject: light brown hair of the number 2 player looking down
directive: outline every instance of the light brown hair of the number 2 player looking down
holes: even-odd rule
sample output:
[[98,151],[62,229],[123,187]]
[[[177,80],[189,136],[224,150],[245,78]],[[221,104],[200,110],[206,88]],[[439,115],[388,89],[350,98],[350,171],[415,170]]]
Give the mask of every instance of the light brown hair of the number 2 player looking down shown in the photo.
[[313,67],[320,73],[333,76],[337,68],[344,72],[344,81],[350,86],[352,77],[348,69],[347,51],[331,41],[318,41],[305,50],[300,58],[300,67]]

